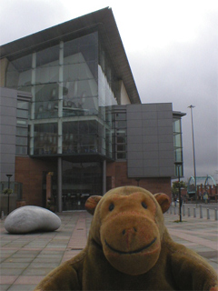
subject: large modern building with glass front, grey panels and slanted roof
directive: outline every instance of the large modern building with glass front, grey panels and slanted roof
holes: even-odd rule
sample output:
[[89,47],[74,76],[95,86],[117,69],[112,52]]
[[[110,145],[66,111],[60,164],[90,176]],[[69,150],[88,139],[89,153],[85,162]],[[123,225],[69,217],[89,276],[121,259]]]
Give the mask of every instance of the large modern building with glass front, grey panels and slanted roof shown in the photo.
[[0,62],[2,189],[11,174],[24,204],[57,211],[115,186],[171,195],[184,114],[141,103],[110,8],[2,45]]

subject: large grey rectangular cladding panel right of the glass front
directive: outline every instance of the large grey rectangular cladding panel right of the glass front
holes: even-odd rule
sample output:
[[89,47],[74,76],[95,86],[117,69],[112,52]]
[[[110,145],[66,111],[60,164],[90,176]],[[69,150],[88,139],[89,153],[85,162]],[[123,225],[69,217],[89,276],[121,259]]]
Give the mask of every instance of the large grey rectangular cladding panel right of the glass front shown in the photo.
[[126,108],[128,176],[173,176],[172,105],[127,105]]

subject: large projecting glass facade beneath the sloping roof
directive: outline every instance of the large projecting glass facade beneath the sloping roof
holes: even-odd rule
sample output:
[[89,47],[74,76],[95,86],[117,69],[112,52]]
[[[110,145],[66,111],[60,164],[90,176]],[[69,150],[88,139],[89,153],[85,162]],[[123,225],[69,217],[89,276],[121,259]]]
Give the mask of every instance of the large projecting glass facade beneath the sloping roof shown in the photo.
[[[6,86],[33,96],[30,156],[113,158],[110,113],[119,102],[117,81],[97,32],[10,62]],[[17,143],[24,142],[17,137]]]

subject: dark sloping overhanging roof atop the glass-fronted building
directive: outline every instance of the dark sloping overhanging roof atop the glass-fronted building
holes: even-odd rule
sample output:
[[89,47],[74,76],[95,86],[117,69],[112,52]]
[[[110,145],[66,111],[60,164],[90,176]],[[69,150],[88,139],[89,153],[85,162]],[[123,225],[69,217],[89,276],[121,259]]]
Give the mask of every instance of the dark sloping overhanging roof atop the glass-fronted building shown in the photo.
[[33,51],[42,50],[48,45],[57,45],[60,41],[68,41],[96,30],[111,57],[118,78],[124,82],[131,103],[141,103],[124,45],[109,7],[2,45],[0,55],[1,58],[6,57],[12,61]]

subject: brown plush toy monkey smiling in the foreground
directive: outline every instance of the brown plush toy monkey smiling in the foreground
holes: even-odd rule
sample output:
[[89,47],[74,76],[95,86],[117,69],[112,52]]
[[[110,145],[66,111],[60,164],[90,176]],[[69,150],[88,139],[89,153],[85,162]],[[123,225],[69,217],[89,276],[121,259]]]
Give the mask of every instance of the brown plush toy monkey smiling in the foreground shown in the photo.
[[35,290],[218,291],[213,267],[169,236],[163,222],[169,206],[168,196],[134,186],[91,196],[86,247]]

